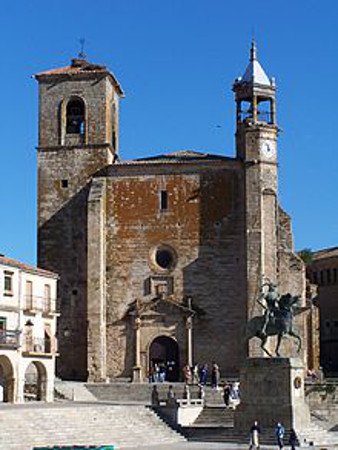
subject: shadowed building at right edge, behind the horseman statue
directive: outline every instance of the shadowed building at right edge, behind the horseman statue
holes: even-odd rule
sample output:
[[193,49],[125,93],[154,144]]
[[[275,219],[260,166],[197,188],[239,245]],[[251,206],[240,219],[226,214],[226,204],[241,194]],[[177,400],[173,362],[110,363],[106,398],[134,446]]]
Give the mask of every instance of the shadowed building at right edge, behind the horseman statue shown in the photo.
[[313,253],[308,266],[312,283],[318,285],[321,365],[327,375],[338,375],[338,247]]

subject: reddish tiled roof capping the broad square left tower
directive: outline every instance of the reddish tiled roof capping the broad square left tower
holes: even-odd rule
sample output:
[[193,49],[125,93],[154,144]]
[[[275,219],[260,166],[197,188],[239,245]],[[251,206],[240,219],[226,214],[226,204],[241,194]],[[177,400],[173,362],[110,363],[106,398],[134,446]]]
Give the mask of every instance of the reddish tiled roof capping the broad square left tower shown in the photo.
[[106,74],[110,76],[119,94],[123,96],[123,90],[119,82],[117,81],[115,76],[107,69],[106,66],[101,66],[99,64],[92,64],[86,61],[85,59],[80,58],[72,59],[70,66],[57,67],[56,69],[39,72],[35,75],[35,78],[39,79],[57,75],[76,76],[82,74]]

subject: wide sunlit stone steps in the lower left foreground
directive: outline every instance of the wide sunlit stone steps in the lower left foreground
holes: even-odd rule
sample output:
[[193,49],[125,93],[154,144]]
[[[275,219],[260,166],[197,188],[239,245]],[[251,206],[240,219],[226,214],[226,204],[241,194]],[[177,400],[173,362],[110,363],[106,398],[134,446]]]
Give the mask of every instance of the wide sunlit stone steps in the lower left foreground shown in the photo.
[[0,408],[0,449],[6,450],[109,444],[147,448],[150,430],[153,445],[185,441],[143,405],[31,403]]

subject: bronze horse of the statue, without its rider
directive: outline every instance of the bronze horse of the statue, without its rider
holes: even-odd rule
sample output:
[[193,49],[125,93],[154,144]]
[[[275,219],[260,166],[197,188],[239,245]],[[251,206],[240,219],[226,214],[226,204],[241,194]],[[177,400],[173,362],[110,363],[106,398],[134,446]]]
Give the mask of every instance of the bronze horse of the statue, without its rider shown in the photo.
[[[302,308],[299,305],[299,297],[293,297],[290,294],[282,295],[278,300],[278,308],[274,311],[274,317],[264,327],[266,316],[255,316],[247,323],[246,337],[250,340],[253,337],[258,337],[261,340],[262,350],[271,358],[273,355],[266,349],[265,344],[270,336],[277,336],[277,345],[275,349],[276,356],[280,356],[279,347],[284,336],[292,336],[298,342],[297,353],[302,347],[302,339],[293,328],[293,318],[295,315],[303,312],[307,308]],[[263,332],[263,328],[265,331]]]

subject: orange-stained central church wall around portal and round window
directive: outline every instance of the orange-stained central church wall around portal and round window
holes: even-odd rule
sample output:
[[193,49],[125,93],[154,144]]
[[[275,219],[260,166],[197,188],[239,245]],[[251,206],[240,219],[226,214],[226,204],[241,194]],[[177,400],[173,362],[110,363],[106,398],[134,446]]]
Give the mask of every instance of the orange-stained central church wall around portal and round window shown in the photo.
[[[172,285],[176,301],[191,296],[199,311],[194,361],[217,360],[223,372],[238,371],[246,315],[242,183],[233,162],[112,167],[107,178],[108,376],[131,375],[133,332],[126,314],[135,299],[156,296],[151,283],[161,277]],[[159,207],[161,190],[168,193],[166,211]],[[168,271],[154,260],[161,245],[173,249],[176,258]],[[172,327],[184,348],[183,332],[175,321]],[[142,329],[143,347],[167,332],[165,324]]]

